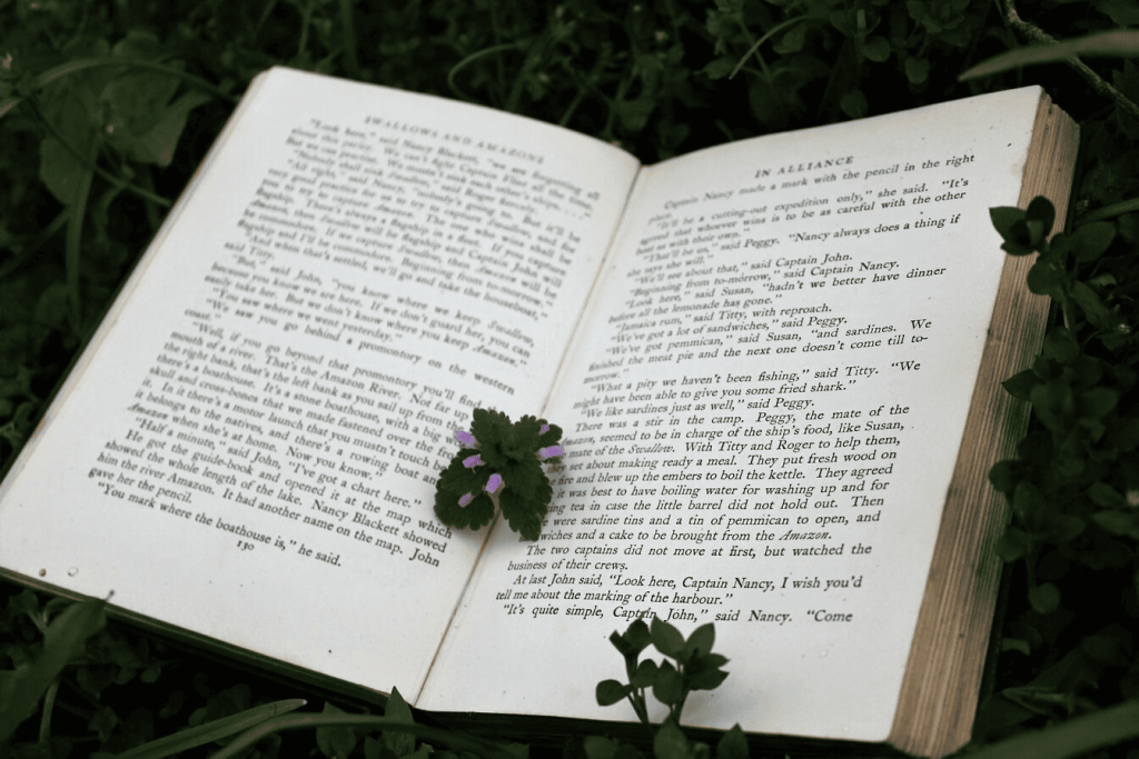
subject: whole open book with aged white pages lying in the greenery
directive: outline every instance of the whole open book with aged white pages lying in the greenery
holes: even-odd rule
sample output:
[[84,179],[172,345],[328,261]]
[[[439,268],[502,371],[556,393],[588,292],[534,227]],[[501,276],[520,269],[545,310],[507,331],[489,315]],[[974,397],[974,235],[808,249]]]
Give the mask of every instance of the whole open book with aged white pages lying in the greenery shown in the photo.
[[[609,633],[715,622],[685,724],[947,753],[1047,312],[988,208],[1063,218],[1074,150],[1033,88],[645,167],[274,68],[11,468],[0,563],[439,711],[631,720]],[[434,518],[475,407],[565,430],[536,543]]]

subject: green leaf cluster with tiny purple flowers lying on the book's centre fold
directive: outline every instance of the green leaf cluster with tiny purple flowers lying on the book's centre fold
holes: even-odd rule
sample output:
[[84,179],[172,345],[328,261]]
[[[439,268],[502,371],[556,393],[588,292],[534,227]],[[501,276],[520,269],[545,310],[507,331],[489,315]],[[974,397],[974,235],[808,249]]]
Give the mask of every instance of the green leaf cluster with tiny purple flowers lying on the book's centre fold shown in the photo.
[[536,541],[554,496],[542,462],[564,453],[562,428],[534,416],[511,424],[501,412],[475,409],[470,431],[454,437],[464,447],[439,477],[435,515],[451,527],[478,529],[500,508],[510,529]]

